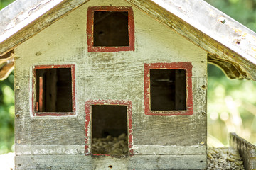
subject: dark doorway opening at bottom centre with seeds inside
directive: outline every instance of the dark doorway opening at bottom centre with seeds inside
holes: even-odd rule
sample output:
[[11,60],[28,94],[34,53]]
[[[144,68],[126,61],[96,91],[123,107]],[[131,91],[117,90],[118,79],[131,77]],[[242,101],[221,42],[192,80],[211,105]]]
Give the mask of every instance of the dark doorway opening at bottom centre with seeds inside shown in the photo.
[[92,154],[127,155],[127,106],[92,105]]

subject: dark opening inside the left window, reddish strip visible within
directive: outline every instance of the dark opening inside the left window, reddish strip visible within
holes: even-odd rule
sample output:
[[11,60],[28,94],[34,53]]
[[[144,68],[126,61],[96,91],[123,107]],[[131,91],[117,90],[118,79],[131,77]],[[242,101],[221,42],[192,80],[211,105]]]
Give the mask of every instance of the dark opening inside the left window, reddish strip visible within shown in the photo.
[[71,68],[36,69],[36,111],[72,112]]

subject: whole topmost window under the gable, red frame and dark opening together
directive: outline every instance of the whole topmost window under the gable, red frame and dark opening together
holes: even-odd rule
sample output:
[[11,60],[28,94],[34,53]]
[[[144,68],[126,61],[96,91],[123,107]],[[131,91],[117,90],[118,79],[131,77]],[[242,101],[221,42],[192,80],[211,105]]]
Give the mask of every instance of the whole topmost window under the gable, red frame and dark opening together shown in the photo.
[[87,44],[89,52],[134,50],[132,7],[89,7],[87,11]]

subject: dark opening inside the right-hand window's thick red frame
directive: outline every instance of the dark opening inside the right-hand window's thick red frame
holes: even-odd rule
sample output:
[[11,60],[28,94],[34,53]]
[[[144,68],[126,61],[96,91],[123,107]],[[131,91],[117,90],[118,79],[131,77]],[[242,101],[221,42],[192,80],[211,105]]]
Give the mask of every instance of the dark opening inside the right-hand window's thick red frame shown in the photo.
[[151,111],[186,110],[186,70],[150,69]]

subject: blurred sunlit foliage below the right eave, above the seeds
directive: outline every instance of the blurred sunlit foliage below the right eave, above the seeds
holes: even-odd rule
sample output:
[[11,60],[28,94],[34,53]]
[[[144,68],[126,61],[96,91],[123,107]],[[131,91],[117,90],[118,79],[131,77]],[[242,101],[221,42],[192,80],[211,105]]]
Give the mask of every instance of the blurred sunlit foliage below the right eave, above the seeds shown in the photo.
[[236,132],[256,145],[256,82],[230,80],[216,68],[208,64],[208,137],[228,145],[228,132]]

